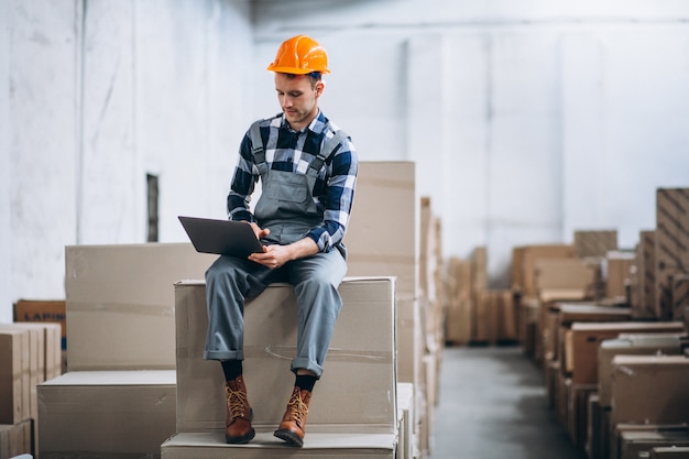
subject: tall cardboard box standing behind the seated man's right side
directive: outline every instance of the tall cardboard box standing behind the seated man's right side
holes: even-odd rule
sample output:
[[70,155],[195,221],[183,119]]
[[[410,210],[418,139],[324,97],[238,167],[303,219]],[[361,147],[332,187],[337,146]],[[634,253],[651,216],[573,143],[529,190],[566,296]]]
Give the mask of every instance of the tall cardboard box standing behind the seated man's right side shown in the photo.
[[[362,161],[344,243],[349,276],[397,277],[397,378],[419,386],[425,330],[418,312],[419,198],[416,165],[406,161]],[[394,228],[390,233],[381,228]],[[418,341],[420,339],[422,341]]]

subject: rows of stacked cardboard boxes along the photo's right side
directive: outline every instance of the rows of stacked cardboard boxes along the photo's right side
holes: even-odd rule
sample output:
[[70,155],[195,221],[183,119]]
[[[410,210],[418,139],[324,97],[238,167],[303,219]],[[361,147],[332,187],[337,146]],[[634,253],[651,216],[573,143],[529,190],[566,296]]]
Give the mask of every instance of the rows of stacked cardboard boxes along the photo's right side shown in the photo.
[[614,230],[514,250],[520,341],[591,459],[689,457],[687,228],[689,189],[658,189],[657,228],[634,251]]

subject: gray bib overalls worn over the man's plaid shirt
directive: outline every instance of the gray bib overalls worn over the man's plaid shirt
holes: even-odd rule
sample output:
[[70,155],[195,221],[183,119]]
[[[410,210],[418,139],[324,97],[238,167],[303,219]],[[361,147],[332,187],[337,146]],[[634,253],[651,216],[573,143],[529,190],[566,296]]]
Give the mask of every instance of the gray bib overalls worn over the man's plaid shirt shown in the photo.
[[[318,171],[341,138],[336,135],[328,141],[303,175],[270,171],[260,135],[256,135],[258,124],[251,131],[263,187],[254,216],[261,228],[271,230],[264,242],[288,244],[304,239],[311,228],[322,222],[322,210],[314,203],[311,190]],[[292,371],[306,369],[320,378],[342,306],[338,286],[347,272],[344,258],[343,245],[291,261],[276,270],[244,259],[218,258],[206,272],[208,335],[204,359],[243,360],[244,298],[258,296],[273,282],[287,282],[294,286],[298,307],[297,348]]]

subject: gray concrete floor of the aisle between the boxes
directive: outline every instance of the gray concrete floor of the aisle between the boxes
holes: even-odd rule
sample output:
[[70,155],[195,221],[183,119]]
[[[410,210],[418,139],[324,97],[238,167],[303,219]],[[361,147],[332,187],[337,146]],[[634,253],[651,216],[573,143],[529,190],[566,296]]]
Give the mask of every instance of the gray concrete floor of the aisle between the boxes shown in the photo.
[[430,459],[586,459],[518,347],[446,348],[434,419]]

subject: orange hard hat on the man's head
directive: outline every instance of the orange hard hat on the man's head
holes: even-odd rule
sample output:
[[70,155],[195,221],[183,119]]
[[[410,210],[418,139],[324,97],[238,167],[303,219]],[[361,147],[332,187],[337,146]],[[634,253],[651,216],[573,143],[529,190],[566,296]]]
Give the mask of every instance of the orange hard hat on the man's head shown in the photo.
[[311,72],[330,73],[326,48],[306,35],[285,40],[277,50],[275,61],[267,66],[267,69],[295,75],[306,75]]

